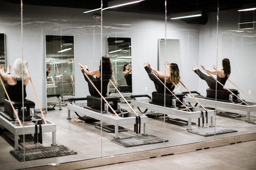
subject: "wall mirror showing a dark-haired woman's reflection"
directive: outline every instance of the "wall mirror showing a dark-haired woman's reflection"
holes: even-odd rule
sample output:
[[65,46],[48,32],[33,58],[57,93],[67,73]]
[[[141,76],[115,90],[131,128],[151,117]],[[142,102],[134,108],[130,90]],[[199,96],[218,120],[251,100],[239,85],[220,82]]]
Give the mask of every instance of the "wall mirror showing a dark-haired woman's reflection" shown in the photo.
[[[131,38],[107,37],[107,54],[111,59],[113,82],[123,96],[132,93]],[[109,94],[118,96],[113,85],[109,84]]]

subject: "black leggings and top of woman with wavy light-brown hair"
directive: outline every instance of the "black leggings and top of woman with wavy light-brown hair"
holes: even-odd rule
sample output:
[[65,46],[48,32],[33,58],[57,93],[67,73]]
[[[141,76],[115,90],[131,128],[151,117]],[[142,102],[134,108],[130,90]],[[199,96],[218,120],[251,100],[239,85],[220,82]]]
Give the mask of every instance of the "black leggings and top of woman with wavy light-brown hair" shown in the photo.
[[[150,69],[146,66],[145,67],[146,72],[148,73],[148,77],[154,82],[155,88],[157,90],[157,92],[159,93],[164,93],[164,79],[159,78],[161,82],[159,81],[159,79],[157,79],[154,74],[151,73]],[[173,91],[175,86],[172,85],[172,83],[166,83],[166,87],[170,90]],[[166,88],[166,94],[171,94],[171,92],[169,90],[167,90]]]

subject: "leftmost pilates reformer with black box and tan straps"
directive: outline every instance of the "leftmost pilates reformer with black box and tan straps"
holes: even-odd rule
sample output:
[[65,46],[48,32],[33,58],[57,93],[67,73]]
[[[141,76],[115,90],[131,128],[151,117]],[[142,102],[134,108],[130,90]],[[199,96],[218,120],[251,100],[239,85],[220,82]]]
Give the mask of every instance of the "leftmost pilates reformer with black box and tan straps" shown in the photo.
[[[4,100],[4,111],[0,111],[0,125],[14,135],[14,149],[19,149],[19,139],[20,136],[23,138],[23,134],[34,134],[34,143],[39,146],[42,144],[42,134],[52,132],[52,145],[56,145],[56,125],[44,118],[32,79],[30,78],[30,81],[38,101],[41,117],[35,114],[34,102],[27,99],[24,99],[24,102],[11,101],[1,77],[0,81],[8,98]],[[22,123],[21,121],[24,122]]]

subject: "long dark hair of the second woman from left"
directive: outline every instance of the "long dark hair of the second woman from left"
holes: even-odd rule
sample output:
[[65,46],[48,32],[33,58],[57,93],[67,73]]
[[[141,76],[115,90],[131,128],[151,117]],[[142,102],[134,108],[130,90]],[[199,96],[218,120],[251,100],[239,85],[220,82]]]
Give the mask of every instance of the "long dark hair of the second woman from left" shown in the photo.
[[[102,71],[101,71],[102,63]],[[109,80],[112,77],[112,66],[109,57],[103,56],[101,62],[99,63],[99,72],[102,74],[102,80]]]

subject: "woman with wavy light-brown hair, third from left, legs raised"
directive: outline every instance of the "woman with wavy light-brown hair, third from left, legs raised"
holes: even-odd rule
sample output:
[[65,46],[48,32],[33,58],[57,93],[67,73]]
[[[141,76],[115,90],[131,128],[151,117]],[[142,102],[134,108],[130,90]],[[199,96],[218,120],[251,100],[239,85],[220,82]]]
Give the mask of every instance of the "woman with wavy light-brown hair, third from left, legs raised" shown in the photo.
[[[149,62],[145,62],[143,67],[145,68],[146,72],[148,73],[148,77],[154,82],[155,88],[157,92],[164,93],[164,85],[161,82],[166,82],[166,87],[169,88],[170,91],[173,91],[175,85],[178,85],[180,82],[180,70],[176,63],[169,64],[168,62],[165,63],[168,67],[169,71],[167,74],[158,71],[155,69]],[[154,72],[156,76],[161,80],[161,82],[151,73],[151,70]],[[167,94],[171,94],[166,89]]]

